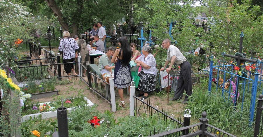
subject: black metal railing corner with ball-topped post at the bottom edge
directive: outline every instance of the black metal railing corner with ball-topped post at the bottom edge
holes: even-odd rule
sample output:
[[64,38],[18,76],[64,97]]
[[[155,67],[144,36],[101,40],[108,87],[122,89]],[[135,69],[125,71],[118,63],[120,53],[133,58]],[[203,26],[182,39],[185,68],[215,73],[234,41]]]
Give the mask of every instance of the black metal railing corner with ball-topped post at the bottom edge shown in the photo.
[[227,133],[217,127],[214,127],[208,124],[208,119],[206,118],[207,113],[203,112],[202,118],[199,118],[200,122],[197,124],[189,125],[186,127],[181,127],[179,129],[170,130],[167,127],[167,131],[162,132],[160,134],[155,134],[151,137],[160,137],[160,136],[180,136],[180,137],[192,137],[192,136],[209,136],[209,137],[217,137],[217,136],[232,136],[234,135]]

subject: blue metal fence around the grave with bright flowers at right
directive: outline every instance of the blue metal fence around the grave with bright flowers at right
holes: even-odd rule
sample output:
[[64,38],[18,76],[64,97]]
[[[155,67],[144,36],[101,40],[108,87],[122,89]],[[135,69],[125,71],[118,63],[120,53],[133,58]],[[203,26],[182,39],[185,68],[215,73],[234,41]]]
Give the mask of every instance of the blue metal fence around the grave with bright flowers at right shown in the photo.
[[[259,61],[259,63],[261,63]],[[245,65],[252,66],[253,63],[243,63],[243,67]],[[241,111],[243,110],[244,100],[245,98],[248,98],[248,96],[245,96],[245,94],[251,95],[251,101],[250,101],[250,124],[253,122],[254,118],[254,112],[255,112],[255,103],[256,103],[256,95],[257,91],[261,91],[263,93],[263,90],[261,88],[262,84],[262,63],[255,65],[255,73],[252,73],[251,71],[246,70],[243,68],[242,71],[236,71],[235,67],[236,65],[233,63],[228,64],[225,61],[219,61],[214,65],[214,61],[210,61],[210,75],[209,75],[209,85],[208,85],[208,91],[211,92],[212,90],[212,82],[216,84],[215,90],[222,91],[222,97],[229,101],[230,103],[240,105],[241,103]],[[260,72],[260,73],[259,73]],[[238,83],[238,85],[237,85]],[[242,93],[242,96],[239,96],[239,93]],[[239,97],[238,97],[239,96]],[[248,106],[246,106],[248,107]],[[238,111],[238,110],[236,110]]]

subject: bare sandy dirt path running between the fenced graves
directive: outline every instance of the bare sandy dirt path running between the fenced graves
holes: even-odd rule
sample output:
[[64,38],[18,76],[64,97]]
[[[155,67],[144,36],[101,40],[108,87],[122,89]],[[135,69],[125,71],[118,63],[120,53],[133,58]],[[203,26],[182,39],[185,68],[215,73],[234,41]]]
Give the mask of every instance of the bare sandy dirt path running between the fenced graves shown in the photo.
[[[104,113],[106,110],[111,111],[109,103],[104,103],[102,98],[97,98],[96,94],[92,94],[88,86],[80,81],[80,80],[72,80],[71,83],[66,85],[57,85],[56,89],[59,91],[59,96],[52,96],[49,98],[42,98],[38,99],[39,102],[47,102],[47,101],[56,101],[59,100],[61,96],[63,98],[66,98],[68,96],[77,96],[79,93],[84,94],[91,102],[97,105],[97,110],[99,110],[101,113]],[[124,91],[124,93],[127,93]],[[137,92],[135,94],[138,94]],[[116,102],[120,102],[120,97],[118,94],[117,89],[115,90],[116,95]],[[162,110],[163,108],[168,109],[167,115],[173,114],[174,117],[178,117],[183,115],[184,110],[186,109],[186,104],[181,103],[181,101],[169,101],[169,104],[167,105],[167,94],[163,95],[161,97],[155,96],[154,93],[149,94],[149,98],[152,102],[152,106],[158,106],[159,110]],[[115,112],[115,117],[124,117],[129,115],[129,95],[124,94],[124,101],[125,106],[124,108],[117,107],[117,111]]]

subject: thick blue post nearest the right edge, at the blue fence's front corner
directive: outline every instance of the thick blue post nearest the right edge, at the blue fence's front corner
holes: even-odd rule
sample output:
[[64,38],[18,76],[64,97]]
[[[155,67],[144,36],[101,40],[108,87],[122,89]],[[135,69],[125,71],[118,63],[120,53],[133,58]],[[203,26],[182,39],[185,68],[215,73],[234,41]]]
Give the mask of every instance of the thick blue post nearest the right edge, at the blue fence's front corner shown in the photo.
[[252,92],[251,92],[251,103],[250,103],[250,119],[249,124],[252,126],[253,119],[254,119],[254,112],[255,112],[255,104],[256,104],[256,95],[257,95],[257,82],[258,82],[258,75],[259,73],[254,73],[255,79],[252,86]]

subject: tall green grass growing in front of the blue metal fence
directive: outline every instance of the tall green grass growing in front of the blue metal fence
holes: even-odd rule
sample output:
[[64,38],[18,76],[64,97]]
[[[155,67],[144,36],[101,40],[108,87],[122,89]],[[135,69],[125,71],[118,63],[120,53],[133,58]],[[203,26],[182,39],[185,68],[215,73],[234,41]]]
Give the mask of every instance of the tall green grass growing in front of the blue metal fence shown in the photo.
[[[223,98],[222,93],[204,92],[205,90],[196,88],[188,102],[188,108],[194,118],[200,118],[203,111],[207,112],[209,124],[229,133],[241,133],[243,136],[252,134],[252,130],[248,127],[249,109],[243,108],[241,112],[241,104],[237,106],[235,111],[231,99]],[[249,99],[245,104],[249,103]],[[245,105],[244,105],[245,106]],[[248,105],[249,106],[249,105]]]

